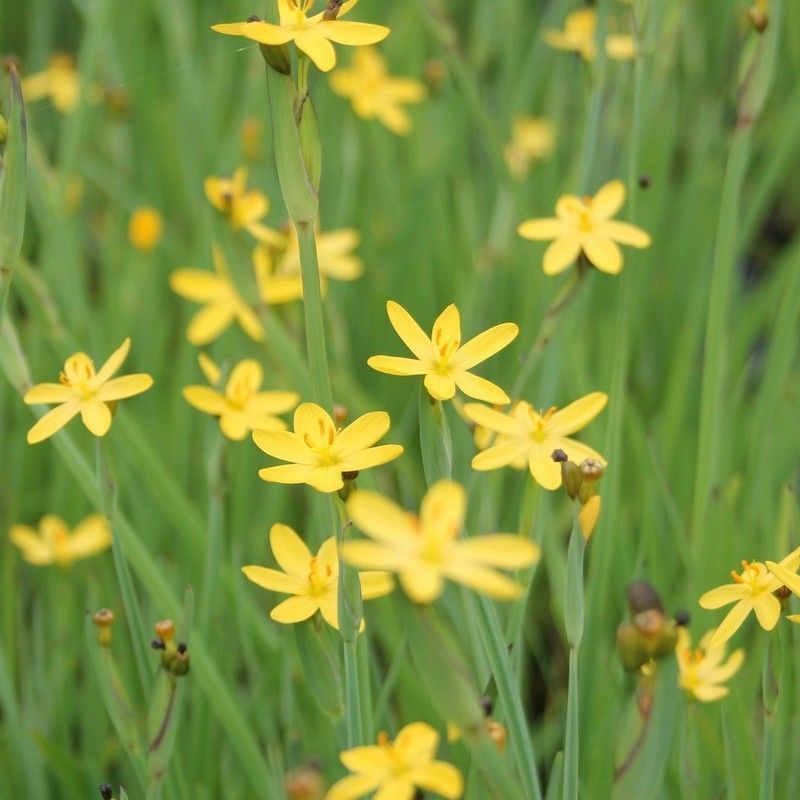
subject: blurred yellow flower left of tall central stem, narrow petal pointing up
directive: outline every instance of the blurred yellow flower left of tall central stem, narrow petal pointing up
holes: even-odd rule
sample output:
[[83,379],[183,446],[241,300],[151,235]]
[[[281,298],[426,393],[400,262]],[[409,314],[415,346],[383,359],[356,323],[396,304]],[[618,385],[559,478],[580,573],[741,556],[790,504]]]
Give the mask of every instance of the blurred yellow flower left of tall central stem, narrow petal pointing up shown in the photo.
[[258,317],[233,285],[222,251],[214,246],[216,275],[201,269],[178,269],[170,275],[172,291],[194,303],[204,303],[189,323],[186,335],[192,344],[203,345],[216,339],[234,320],[257,342],[264,338]]

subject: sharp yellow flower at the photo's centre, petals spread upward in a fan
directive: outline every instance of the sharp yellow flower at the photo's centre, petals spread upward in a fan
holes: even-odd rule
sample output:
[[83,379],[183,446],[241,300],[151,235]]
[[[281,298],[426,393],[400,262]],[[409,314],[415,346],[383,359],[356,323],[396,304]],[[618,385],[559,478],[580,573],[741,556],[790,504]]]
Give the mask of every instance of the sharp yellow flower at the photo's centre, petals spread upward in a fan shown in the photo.
[[470,370],[510,344],[519,333],[513,322],[503,322],[461,344],[461,318],[449,305],[433,323],[430,338],[399,303],[386,303],[389,322],[416,358],[372,356],[367,364],[388,375],[424,375],[425,388],[435,400],[450,400],[456,387],[464,394],[487,403],[509,402],[508,395]]

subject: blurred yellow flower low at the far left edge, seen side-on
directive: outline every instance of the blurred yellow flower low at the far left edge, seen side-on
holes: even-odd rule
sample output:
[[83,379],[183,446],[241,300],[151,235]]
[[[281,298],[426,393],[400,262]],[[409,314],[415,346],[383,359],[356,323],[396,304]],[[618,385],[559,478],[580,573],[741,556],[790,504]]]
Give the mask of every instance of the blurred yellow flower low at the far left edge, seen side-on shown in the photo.
[[93,514],[70,531],[60,517],[48,514],[39,522],[39,530],[28,525],[12,525],[9,537],[30,564],[42,567],[58,564],[68,567],[73,561],[88,558],[111,546],[111,531],[105,517]]

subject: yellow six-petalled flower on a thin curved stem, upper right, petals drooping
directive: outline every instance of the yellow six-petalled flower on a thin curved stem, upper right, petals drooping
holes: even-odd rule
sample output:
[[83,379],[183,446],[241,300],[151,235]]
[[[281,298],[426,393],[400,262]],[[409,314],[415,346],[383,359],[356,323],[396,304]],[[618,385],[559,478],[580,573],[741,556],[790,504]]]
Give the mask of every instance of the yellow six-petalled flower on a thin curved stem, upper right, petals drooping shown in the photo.
[[650,246],[650,236],[641,228],[611,219],[624,202],[625,184],[609,181],[594,197],[563,195],[556,203],[555,217],[526,220],[517,230],[525,239],[554,240],[544,252],[545,275],[563,272],[581,251],[597,269],[616,275],[622,269],[617,243]]

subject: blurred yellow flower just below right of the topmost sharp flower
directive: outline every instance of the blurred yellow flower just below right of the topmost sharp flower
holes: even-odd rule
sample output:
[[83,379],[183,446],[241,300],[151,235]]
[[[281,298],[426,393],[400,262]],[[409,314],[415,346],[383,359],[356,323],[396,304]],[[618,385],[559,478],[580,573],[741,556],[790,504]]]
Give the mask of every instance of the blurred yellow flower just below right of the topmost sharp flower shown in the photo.
[[353,56],[350,69],[331,75],[331,88],[349,98],[353,111],[363,119],[377,119],[399,136],[411,130],[411,117],[403,108],[425,98],[425,85],[412,78],[393,78],[386,59],[374,47],[362,47]]

